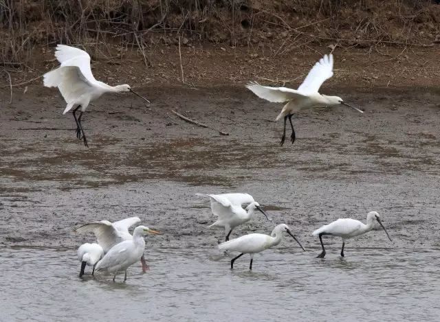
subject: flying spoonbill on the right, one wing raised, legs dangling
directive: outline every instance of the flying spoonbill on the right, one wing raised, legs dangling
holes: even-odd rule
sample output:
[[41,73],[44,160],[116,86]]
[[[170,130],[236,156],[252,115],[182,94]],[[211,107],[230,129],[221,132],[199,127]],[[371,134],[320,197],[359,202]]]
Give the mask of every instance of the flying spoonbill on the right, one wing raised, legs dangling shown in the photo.
[[298,89],[287,89],[286,87],[268,87],[261,86],[257,82],[251,82],[246,87],[254,92],[258,97],[264,98],[269,102],[285,103],[283,110],[276,117],[276,121],[284,117],[284,131],[281,137],[281,145],[283,145],[286,137],[286,123],[289,119],[290,127],[292,128],[292,135],[290,139],[292,143],[295,141],[295,130],[292,124],[292,115],[303,111],[307,108],[324,107],[332,105],[345,105],[354,108],[360,113],[364,113],[359,108],[355,108],[345,103],[342,98],[338,96],[327,96],[318,93],[319,88],[325,80],[333,76],[333,55],[324,55],[323,58],[316,62],[315,66],[309,71],[303,84],[300,84]]

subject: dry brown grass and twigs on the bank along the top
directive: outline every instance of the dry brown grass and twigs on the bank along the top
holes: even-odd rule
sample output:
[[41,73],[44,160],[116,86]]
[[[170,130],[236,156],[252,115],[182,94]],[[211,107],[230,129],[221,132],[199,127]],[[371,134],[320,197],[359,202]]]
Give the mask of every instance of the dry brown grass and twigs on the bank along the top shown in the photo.
[[92,56],[118,45],[148,65],[148,48],[177,45],[179,37],[280,43],[276,54],[309,43],[429,44],[439,23],[440,5],[428,0],[0,0],[0,59],[25,68],[37,45],[75,44]]

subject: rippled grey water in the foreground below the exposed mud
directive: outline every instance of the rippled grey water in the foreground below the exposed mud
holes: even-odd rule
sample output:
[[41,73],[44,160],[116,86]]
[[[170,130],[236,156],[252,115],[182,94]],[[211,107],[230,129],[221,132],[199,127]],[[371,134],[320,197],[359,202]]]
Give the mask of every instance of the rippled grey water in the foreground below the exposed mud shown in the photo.
[[[3,248],[1,321],[434,321],[438,250],[271,249],[254,259],[213,249],[151,249],[151,271],[78,277],[74,249]],[[89,273],[89,271],[87,271]]]

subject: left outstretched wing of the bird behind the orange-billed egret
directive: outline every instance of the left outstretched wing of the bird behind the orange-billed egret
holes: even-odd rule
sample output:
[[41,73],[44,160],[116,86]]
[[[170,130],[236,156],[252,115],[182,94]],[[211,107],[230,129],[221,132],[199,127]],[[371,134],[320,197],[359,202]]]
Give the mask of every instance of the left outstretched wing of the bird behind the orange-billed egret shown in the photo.
[[107,253],[111,247],[115,244],[119,244],[122,242],[122,238],[120,237],[120,233],[118,232],[111,222],[107,220],[102,220],[99,222],[90,222],[89,224],[85,224],[81,227],[75,229],[78,233],[87,233],[93,232],[98,240],[98,244],[102,246],[104,252]]

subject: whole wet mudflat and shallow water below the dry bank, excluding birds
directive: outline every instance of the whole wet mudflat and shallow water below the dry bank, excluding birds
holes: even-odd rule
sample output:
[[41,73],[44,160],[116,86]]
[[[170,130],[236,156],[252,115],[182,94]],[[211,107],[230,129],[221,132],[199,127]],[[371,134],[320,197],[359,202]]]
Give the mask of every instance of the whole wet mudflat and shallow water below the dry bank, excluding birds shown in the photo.
[[[270,121],[279,106],[241,89],[149,90],[150,109],[126,96],[97,102],[84,119],[89,149],[50,91],[30,88],[4,107],[0,321],[437,317],[438,94],[341,93],[365,115],[298,115],[296,143],[280,147],[282,124]],[[230,135],[181,122],[169,106]],[[245,259],[230,271],[228,258],[214,260],[223,231],[206,228],[213,218],[197,192],[252,194],[274,222],[256,216],[232,237],[285,222],[307,253],[285,240],[252,273]],[[373,209],[393,242],[371,231],[350,240],[341,260],[340,240],[327,238],[327,257],[314,258],[311,231]],[[133,266],[126,284],[78,279],[75,249],[93,237],[72,229],[127,216],[163,233],[147,240],[151,271]]]

